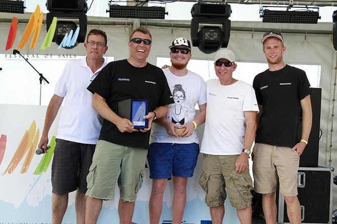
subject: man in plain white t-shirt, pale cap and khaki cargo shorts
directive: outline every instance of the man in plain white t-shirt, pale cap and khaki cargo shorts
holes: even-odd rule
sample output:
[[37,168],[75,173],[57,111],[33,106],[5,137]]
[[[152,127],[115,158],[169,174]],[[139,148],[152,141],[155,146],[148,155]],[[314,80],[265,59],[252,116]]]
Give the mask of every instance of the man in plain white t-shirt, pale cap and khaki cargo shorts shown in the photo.
[[248,158],[256,130],[258,106],[252,86],[233,78],[235,55],[224,49],[215,55],[218,79],[208,80],[206,122],[200,152],[204,153],[199,180],[206,191],[213,224],[223,222],[228,194],[241,223],[252,223],[253,185]]

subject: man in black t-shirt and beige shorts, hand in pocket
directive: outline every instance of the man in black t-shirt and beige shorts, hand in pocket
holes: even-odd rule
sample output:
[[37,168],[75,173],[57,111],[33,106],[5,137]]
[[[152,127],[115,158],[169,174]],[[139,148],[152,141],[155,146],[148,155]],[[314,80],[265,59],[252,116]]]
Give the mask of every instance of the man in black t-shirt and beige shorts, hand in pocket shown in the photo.
[[[300,155],[308,143],[312,113],[312,89],[304,71],[283,62],[285,46],[278,31],[261,40],[269,69],[254,78],[253,88],[260,113],[253,149],[254,190],[263,194],[267,224],[276,223],[275,191],[277,180],[292,224],[301,223],[297,198],[297,171]],[[303,111],[299,137],[300,108]]]

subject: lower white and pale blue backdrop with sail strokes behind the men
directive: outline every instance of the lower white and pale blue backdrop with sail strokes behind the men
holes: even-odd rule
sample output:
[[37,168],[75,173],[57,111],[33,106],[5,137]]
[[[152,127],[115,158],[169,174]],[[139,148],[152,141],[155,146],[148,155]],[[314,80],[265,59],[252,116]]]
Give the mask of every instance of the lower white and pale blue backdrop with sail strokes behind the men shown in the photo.
[[[52,223],[51,214],[51,166],[57,134],[58,117],[50,133],[51,149],[36,155],[46,106],[0,104],[0,223]],[[201,138],[203,126],[198,127]],[[183,217],[185,224],[210,223],[209,208],[204,203],[205,193],[199,186],[202,155],[199,155],[196,171],[188,179],[187,202]],[[145,171],[143,185],[138,193],[134,223],[149,223],[149,197],[151,192],[149,169]],[[118,188],[116,188],[118,189]],[[115,198],[119,198],[116,190]],[[160,223],[172,223],[173,186],[169,181],[163,200]],[[118,223],[116,201],[106,201],[98,223]],[[226,223],[239,223],[236,210],[225,203]],[[68,209],[63,223],[76,223],[75,193],[70,193]]]

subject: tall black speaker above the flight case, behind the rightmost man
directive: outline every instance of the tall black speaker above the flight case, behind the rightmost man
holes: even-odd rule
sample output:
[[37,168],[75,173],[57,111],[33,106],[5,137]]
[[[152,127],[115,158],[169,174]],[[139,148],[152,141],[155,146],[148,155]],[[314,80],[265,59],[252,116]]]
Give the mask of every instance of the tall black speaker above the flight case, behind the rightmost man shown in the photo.
[[[304,152],[300,157],[300,167],[318,166],[322,89],[312,88],[312,90],[314,90],[314,93],[310,95],[312,108],[312,126],[308,139],[308,145],[305,147]],[[301,137],[302,117],[300,118],[299,130],[299,136]]]

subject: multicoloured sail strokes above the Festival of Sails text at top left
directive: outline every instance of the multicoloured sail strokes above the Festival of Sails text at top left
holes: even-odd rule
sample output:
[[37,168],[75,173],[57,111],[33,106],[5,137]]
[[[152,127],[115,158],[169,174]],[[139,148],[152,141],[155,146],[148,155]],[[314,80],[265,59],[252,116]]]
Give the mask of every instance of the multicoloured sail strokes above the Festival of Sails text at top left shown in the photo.
[[[22,35],[22,38],[17,46],[16,49],[23,49],[25,48],[28,40],[32,37],[30,48],[33,49],[36,46],[37,39],[40,35],[41,27],[42,27],[42,21],[43,21],[43,12],[40,10],[40,6],[37,5],[34,13],[32,13],[28,24],[26,26],[25,32]],[[7,38],[7,44],[6,44],[6,50],[9,50],[13,47],[15,37],[16,37],[16,32],[17,32],[17,18],[13,17],[12,18],[12,23],[10,26],[10,30],[8,33],[8,38]],[[45,36],[40,49],[44,50],[47,47],[50,47],[54,38],[54,34],[56,31],[56,24],[57,24],[57,17],[53,18],[53,21],[50,25],[49,30],[47,31],[47,35]],[[71,30],[69,34],[66,34],[59,45],[59,48],[61,47],[71,47],[74,46],[77,40],[77,37],[79,35],[79,27],[77,30],[74,32]],[[74,33],[74,35],[73,35]]]

